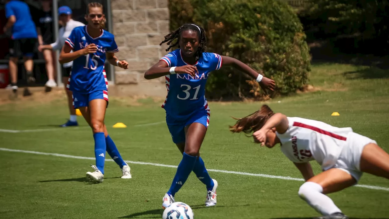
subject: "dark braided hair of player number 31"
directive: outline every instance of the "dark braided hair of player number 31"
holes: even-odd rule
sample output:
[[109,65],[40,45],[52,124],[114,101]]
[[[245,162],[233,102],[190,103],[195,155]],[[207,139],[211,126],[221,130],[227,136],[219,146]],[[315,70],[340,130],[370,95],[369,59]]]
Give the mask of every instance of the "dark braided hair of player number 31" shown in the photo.
[[[193,23],[184,24],[180,26],[177,30],[171,32],[170,34],[165,36],[165,40],[163,40],[159,46],[161,46],[163,43],[167,42],[166,44],[169,45],[169,47],[166,49],[166,51],[169,51],[170,48],[177,46],[180,48],[180,45],[178,44],[178,41],[180,39],[180,35],[185,30],[192,30],[197,33],[199,36],[199,43],[198,43],[198,49],[196,51],[196,61],[199,60],[199,58],[202,56],[204,52],[206,52],[207,49],[207,37],[205,37],[204,29],[198,25],[195,25]],[[177,40],[176,40],[177,39]],[[175,41],[176,40],[176,41]],[[174,41],[174,42],[173,42]]]

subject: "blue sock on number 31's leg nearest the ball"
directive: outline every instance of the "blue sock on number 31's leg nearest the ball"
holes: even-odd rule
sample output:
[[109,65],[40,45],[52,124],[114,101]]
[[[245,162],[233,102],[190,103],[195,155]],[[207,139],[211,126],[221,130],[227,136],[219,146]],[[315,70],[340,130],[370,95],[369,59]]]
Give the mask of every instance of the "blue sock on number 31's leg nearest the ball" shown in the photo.
[[191,155],[188,155],[184,152],[182,155],[182,160],[180,164],[178,165],[177,172],[175,173],[175,176],[173,178],[172,185],[170,186],[168,194],[171,194],[172,196],[177,193],[182,185],[184,185],[185,181],[189,177],[189,174],[193,170],[193,166],[195,166],[197,157],[193,157]]

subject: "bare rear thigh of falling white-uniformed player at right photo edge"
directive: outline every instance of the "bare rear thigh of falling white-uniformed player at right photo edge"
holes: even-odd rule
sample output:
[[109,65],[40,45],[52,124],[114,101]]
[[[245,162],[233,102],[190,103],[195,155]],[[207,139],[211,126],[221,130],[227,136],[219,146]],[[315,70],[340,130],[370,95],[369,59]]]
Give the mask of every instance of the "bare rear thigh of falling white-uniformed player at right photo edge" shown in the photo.
[[374,143],[363,148],[359,166],[362,172],[389,179],[389,154]]

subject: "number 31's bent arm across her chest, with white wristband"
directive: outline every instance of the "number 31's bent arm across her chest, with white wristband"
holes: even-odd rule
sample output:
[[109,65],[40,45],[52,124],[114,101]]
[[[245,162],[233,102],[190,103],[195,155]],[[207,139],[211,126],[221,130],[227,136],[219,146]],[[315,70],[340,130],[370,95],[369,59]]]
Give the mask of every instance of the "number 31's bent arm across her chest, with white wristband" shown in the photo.
[[165,61],[159,60],[158,63],[151,66],[149,70],[145,72],[145,79],[154,79],[159,78],[169,74],[190,74],[191,76],[196,76],[197,68],[193,65],[184,65],[178,67],[168,67]]

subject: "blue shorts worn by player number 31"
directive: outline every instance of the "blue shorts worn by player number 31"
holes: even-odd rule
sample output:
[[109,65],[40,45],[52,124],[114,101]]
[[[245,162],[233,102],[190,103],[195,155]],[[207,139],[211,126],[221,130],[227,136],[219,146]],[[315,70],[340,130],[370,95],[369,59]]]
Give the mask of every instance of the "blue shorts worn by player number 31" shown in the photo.
[[209,125],[210,111],[202,110],[200,112],[194,113],[193,115],[188,116],[185,119],[175,120],[170,116],[166,115],[166,124],[170,135],[172,136],[173,142],[175,144],[185,142],[185,127],[192,123],[203,124],[206,128]]

